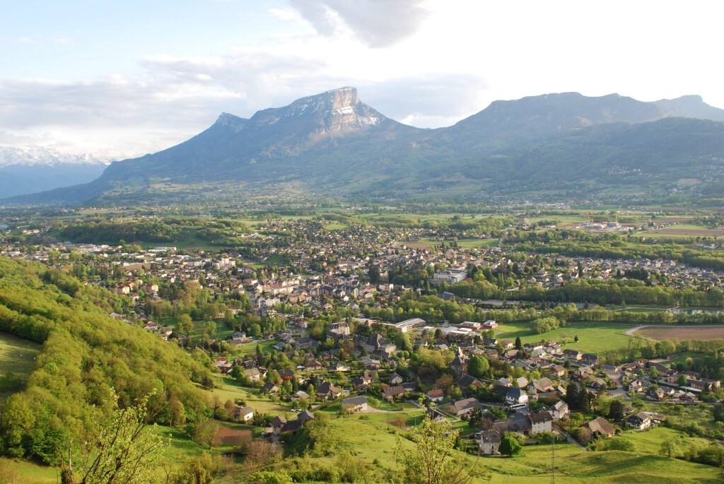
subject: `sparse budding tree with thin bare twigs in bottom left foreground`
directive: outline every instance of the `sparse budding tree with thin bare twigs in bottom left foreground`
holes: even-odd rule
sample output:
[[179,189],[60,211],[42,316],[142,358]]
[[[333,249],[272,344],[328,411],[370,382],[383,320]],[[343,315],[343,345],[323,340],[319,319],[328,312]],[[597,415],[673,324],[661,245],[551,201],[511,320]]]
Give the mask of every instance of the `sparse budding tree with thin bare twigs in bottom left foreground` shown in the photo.
[[88,436],[88,460],[80,466],[80,484],[148,483],[153,481],[161,448],[169,445],[153,436],[148,425],[148,399],[119,408],[111,393],[111,415],[97,422]]

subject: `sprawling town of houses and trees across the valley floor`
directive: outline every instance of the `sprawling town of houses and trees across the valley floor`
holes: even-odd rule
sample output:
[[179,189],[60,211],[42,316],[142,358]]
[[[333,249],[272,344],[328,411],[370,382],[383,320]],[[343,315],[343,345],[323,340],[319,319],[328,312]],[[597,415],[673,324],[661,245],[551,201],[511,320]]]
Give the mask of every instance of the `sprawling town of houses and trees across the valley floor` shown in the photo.
[[[259,398],[301,409],[291,418],[287,412],[286,417],[258,412],[253,405],[227,405],[230,420],[263,426],[264,437],[275,443],[289,440],[313,420],[312,411],[331,404],[350,415],[380,412],[380,407],[389,411],[390,405],[407,402],[408,409],[435,421],[471,423],[474,431],[466,437],[479,454],[499,454],[506,433],[525,439],[555,433],[585,445],[622,428],[646,430],[665,420],[663,411],[639,411],[641,402],[699,404],[702,393],[720,389],[720,381],[665,359],[615,365],[545,335],[526,344],[499,337],[495,320],[403,319],[407,313],[395,311],[395,303],[411,293],[432,289],[434,294],[441,285],[470,281],[470,268],[508,274],[510,301],[468,302],[503,312],[528,307],[532,314],[536,310],[530,303],[514,300],[521,287],[550,289],[578,279],[647,271],[654,275],[654,286],[713,289],[722,287],[723,273],[672,260],[544,259],[502,247],[432,248],[397,240],[400,235],[431,236],[425,232],[353,228],[288,243],[288,237],[269,231],[317,228],[286,221],[264,229],[265,234],[245,236],[263,243],[237,255],[164,246],[130,253],[83,243],[38,245],[30,251],[6,245],[2,253],[69,268],[82,261],[87,284],[106,285],[130,301],[111,317],[156,332],[169,344],[203,347],[219,375]],[[250,263],[251,252],[263,264]],[[271,265],[271,258],[287,263]],[[180,306],[174,286],[208,294],[203,309],[192,311],[193,319],[226,327],[219,331],[211,323],[200,330],[203,324],[197,321],[193,329],[182,328],[172,317]],[[437,297],[456,299],[444,291]],[[387,317],[363,317],[367,308]],[[242,323],[245,315],[261,324]],[[174,324],[162,323],[174,319]],[[315,324],[319,320],[327,321],[324,328]],[[602,395],[617,399],[620,409],[581,421]]]

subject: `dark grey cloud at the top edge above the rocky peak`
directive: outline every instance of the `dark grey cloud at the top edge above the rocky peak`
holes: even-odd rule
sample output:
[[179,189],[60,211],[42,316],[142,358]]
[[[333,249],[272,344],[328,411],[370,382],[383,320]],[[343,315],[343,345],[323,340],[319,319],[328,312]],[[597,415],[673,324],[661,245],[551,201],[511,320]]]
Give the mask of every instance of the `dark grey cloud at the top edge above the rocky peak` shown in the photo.
[[289,0],[320,35],[350,31],[366,46],[393,46],[410,37],[428,17],[421,0]]

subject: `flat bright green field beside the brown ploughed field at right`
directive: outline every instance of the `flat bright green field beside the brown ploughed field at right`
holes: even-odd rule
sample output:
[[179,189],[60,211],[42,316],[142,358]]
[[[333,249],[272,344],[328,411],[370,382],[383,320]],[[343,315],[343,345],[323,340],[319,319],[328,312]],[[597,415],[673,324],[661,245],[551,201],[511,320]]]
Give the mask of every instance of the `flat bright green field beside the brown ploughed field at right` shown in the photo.
[[[626,331],[636,326],[623,323],[568,323],[564,328],[535,334],[529,323],[508,323],[498,326],[495,336],[498,339],[513,340],[520,336],[523,344],[555,339],[563,349],[599,354],[627,348],[631,336],[626,336]],[[578,336],[578,342],[573,341],[575,336]]]

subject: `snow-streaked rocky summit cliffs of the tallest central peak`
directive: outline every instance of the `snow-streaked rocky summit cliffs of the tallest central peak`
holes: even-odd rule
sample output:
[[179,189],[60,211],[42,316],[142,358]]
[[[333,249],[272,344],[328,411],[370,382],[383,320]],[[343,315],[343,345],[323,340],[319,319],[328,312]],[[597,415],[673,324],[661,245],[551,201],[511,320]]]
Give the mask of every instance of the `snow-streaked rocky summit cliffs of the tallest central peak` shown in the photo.
[[258,111],[249,120],[249,127],[296,124],[310,135],[320,135],[361,130],[386,119],[362,103],[355,88],[341,88],[298,99],[283,108]]

